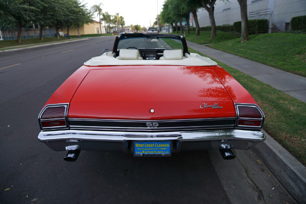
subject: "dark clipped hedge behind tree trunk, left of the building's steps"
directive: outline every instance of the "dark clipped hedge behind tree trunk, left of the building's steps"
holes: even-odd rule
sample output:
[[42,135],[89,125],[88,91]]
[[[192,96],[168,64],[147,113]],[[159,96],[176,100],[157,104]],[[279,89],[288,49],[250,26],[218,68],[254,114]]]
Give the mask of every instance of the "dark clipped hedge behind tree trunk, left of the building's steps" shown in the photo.
[[[268,20],[267,19],[254,19],[248,20],[249,35],[268,33]],[[241,33],[241,21],[234,22],[234,30]]]

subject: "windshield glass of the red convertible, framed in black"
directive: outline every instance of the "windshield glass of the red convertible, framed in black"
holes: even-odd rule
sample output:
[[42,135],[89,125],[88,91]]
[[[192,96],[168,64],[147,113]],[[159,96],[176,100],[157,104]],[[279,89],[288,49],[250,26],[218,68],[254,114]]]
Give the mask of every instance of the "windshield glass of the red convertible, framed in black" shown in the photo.
[[184,49],[181,39],[171,37],[133,37],[121,38],[117,49]]

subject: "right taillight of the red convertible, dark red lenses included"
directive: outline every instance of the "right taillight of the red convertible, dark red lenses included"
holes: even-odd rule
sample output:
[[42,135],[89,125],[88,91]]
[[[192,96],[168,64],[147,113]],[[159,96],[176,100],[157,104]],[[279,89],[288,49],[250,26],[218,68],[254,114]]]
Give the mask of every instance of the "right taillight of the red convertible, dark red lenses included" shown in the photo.
[[237,113],[236,127],[262,129],[265,115],[255,104],[235,104]]

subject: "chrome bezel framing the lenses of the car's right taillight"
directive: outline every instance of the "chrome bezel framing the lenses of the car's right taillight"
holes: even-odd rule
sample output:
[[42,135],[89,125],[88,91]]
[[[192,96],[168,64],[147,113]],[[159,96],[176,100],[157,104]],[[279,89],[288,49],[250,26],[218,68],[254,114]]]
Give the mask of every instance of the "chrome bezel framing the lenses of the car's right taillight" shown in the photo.
[[[239,107],[250,107],[250,108],[256,108],[261,117],[260,118],[251,118],[251,117],[240,117],[239,115]],[[265,115],[263,111],[256,105],[256,104],[235,104],[236,108],[236,127],[239,129],[262,129],[264,125]],[[241,120],[248,120],[248,121],[256,121],[259,122],[259,125],[242,125],[239,124]]]

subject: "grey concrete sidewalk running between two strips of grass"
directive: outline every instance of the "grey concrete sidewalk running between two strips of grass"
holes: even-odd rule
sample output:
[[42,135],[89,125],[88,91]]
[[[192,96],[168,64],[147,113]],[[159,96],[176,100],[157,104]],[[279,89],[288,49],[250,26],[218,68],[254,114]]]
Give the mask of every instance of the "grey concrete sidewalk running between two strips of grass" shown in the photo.
[[192,49],[231,66],[306,103],[306,78],[274,67],[187,41]]

